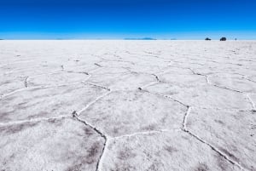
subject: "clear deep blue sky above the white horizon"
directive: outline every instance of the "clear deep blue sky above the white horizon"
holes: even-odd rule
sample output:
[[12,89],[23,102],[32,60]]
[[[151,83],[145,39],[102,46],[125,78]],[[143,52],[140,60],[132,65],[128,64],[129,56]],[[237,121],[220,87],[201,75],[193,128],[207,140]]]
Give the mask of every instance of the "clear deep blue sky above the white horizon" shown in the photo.
[[0,38],[256,39],[256,0],[0,0]]

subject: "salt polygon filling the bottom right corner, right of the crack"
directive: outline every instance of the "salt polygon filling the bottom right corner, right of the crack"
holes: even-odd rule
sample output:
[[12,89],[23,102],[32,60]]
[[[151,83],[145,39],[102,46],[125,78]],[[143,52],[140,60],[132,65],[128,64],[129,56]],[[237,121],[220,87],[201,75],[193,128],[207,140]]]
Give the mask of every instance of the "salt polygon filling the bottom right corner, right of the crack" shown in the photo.
[[192,109],[187,128],[216,146],[230,160],[255,170],[255,123],[253,111]]

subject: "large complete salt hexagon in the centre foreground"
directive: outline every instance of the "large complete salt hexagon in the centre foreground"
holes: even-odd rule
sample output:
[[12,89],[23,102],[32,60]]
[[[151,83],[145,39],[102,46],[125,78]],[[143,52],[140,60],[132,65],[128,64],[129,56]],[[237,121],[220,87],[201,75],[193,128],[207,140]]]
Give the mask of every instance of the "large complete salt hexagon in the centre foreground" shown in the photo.
[[187,108],[141,91],[115,91],[90,105],[79,116],[109,136],[180,128]]

